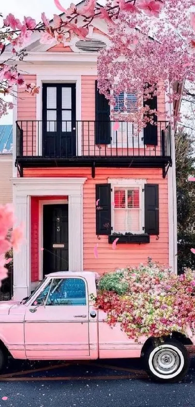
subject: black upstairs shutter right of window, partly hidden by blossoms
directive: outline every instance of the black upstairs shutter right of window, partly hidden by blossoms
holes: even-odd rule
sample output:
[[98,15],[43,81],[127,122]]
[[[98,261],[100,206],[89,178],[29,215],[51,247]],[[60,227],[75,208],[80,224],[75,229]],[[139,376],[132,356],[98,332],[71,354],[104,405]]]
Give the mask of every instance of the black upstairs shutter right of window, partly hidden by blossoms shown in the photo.
[[[154,96],[152,99],[148,99],[144,101],[145,105],[150,106],[150,109],[157,110],[157,96]],[[157,116],[153,115],[154,123],[157,122]],[[144,144],[157,146],[158,145],[158,128],[155,124],[148,123],[146,127],[144,127]]]

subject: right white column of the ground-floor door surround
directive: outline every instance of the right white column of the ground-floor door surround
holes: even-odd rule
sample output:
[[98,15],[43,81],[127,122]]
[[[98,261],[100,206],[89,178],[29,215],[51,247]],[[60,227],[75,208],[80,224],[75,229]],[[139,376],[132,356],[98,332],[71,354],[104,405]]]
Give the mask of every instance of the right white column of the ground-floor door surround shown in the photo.
[[68,197],[69,271],[83,270],[82,194]]

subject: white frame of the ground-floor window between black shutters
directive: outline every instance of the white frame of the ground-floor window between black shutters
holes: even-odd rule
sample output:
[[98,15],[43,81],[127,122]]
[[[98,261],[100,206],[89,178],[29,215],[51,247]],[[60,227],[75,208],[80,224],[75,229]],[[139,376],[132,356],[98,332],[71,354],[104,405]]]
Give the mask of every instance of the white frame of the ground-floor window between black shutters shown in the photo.
[[130,231],[116,231],[114,226],[114,218],[115,218],[115,207],[111,205],[111,225],[112,225],[112,234],[113,233],[134,233],[135,235],[143,234],[144,232],[144,186],[147,183],[146,179],[131,179],[131,178],[119,178],[119,179],[108,179],[108,183],[111,184],[111,202],[114,202],[114,189],[115,188],[135,188],[139,187],[139,200],[140,200],[140,214],[139,214],[139,231],[134,232],[133,230]]

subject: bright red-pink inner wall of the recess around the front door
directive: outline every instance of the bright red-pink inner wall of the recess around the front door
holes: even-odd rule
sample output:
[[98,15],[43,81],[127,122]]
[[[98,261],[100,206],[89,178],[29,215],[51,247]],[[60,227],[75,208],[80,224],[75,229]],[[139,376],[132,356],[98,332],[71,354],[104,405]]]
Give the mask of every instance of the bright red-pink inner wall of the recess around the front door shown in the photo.
[[39,281],[43,280],[43,207],[44,205],[68,204],[68,199],[39,201]]

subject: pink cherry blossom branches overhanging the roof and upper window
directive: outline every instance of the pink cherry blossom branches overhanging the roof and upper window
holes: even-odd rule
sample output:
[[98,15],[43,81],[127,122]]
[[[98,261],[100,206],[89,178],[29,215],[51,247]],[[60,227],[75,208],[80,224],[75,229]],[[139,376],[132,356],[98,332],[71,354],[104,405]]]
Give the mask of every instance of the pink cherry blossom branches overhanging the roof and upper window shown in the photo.
[[[31,17],[20,21],[9,14],[2,18],[0,51],[5,51],[9,41],[13,64],[4,61],[0,66],[1,93],[13,92],[14,85],[23,86],[24,91],[32,94],[38,92],[35,85],[25,84],[15,63],[17,58],[25,57],[24,47],[32,33],[41,33],[41,43],[66,44],[73,36],[86,39],[96,18],[106,21],[111,43],[98,56],[100,92],[111,106],[115,104],[114,94],[131,91],[137,95],[137,102],[126,109],[131,113],[124,116],[120,112],[117,119],[134,120],[142,126],[147,121],[152,123],[153,115],[162,112],[152,110],[147,103],[143,107],[143,94],[147,101],[165,89],[172,102],[180,95],[177,91],[170,92],[168,84],[181,83],[184,79],[195,81],[194,0],[107,0],[105,6],[86,0],[78,7],[72,3],[68,9],[64,9],[60,0],[54,2],[63,15],[54,15],[52,22],[45,13],[38,24]],[[11,103],[0,100],[1,115],[11,107]]]

